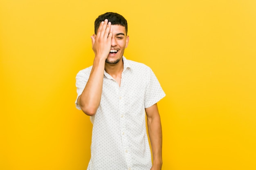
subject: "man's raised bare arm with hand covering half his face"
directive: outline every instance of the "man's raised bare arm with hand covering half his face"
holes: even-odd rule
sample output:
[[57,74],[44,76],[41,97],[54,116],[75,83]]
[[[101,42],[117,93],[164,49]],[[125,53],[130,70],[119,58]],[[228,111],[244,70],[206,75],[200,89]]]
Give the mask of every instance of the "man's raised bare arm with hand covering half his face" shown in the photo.
[[78,104],[86,115],[95,115],[101,101],[105,61],[111,49],[111,23],[106,19],[101,22],[97,35],[92,35],[92,49],[95,57],[92,71],[83,93],[78,97]]

